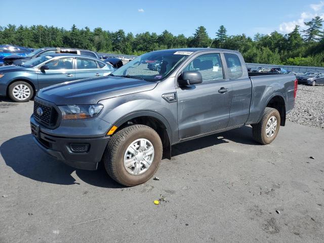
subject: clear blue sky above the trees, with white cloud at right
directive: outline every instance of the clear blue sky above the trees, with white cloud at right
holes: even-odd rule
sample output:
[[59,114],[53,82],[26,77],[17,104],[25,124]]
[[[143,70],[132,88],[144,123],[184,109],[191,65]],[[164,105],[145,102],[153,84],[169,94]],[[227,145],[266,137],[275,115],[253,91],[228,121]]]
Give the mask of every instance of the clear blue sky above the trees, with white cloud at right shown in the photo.
[[203,25],[210,37],[220,25],[229,35],[268,34],[276,30],[291,32],[296,24],[318,15],[324,17],[324,1],[316,0],[159,0],[159,1],[91,1],[91,0],[0,0],[3,10],[0,25],[53,25],[70,29],[101,27],[124,29],[133,34],[145,31],[160,34],[165,29],[190,36]]

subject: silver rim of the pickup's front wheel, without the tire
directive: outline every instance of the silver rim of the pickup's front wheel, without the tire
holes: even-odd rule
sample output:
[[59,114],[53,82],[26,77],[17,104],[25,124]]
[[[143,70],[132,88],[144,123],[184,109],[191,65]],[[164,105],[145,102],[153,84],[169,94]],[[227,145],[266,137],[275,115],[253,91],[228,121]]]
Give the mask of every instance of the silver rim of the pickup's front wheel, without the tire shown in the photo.
[[131,175],[141,175],[151,166],[153,159],[153,144],[145,138],[140,138],[133,141],[126,149],[124,166]]

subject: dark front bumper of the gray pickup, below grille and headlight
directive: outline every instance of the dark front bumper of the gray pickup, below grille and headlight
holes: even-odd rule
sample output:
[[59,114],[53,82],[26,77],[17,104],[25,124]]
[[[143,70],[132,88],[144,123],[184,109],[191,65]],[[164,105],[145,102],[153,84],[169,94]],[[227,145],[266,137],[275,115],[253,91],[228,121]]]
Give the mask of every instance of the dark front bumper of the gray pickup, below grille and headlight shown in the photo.
[[[77,169],[96,170],[110,139],[110,137],[68,138],[51,136],[44,133],[42,125],[32,117],[30,124],[33,140],[43,151]],[[73,151],[73,148],[79,147],[85,149]]]

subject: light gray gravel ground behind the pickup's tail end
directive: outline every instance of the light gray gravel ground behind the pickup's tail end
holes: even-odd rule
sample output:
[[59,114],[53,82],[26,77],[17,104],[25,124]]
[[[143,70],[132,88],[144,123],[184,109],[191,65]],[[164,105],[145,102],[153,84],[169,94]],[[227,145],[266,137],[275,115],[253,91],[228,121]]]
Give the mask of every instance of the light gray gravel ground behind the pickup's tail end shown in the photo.
[[294,123],[324,129],[324,87],[299,85],[295,108],[287,118]]

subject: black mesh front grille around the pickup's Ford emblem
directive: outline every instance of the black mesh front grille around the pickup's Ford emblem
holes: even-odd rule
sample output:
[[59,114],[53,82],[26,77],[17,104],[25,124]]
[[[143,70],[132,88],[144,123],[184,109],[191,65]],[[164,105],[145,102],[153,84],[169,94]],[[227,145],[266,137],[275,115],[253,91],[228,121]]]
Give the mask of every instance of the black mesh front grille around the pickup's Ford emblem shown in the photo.
[[[39,107],[43,110],[42,115],[37,114],[37,109]],[[38,103],[37,101],[34,101],[34,117],[39,123],[52,128],[57,124],[58,113],[54,107],[46,106]]]

